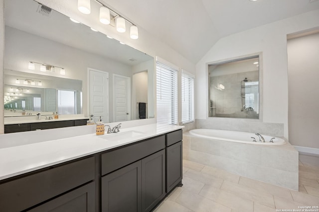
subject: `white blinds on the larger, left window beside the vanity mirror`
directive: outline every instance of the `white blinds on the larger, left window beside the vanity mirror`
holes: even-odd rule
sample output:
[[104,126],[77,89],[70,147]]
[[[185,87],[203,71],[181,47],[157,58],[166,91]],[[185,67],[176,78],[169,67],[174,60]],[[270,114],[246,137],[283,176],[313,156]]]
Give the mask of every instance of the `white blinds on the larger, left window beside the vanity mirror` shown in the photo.
[[177,124],[177,70],[156,63],[157,123]]

